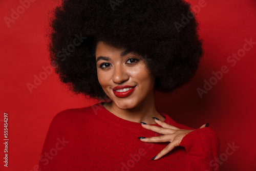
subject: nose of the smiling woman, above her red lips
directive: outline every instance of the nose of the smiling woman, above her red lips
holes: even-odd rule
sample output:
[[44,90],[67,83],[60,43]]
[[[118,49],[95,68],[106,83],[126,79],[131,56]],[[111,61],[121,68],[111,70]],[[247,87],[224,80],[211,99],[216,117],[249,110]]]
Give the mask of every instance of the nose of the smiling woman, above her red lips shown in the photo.
[[123,65],[116,65],[113,72],[113,82],[117,84],[120,84],[129,79],[129,74]]

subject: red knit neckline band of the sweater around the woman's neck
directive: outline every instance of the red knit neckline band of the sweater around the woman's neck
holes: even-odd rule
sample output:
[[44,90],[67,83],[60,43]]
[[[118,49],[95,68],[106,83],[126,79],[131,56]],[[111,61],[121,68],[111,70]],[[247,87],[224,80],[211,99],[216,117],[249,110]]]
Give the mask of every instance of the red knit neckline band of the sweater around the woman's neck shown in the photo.
[[[125,120],[122,118],[117,117],[103,106],[105,102],[99,102],[97,104],[92,105],[92,109],[94,110],[94,113],[100,117],[102,120],[109,122],[110,124],[122,127],[126,130],[133,130],[133,131],[144,131],[145,129],[141,126],[141,123],[138,122],[132,122],[129,120]],[[164,122],[168,123],[170,125],[175,125],[175,121],[170,118],[167,114],[163,112],[159,112],[164,118]],[[160,126],[158,124],[151,124],[155,126]]]

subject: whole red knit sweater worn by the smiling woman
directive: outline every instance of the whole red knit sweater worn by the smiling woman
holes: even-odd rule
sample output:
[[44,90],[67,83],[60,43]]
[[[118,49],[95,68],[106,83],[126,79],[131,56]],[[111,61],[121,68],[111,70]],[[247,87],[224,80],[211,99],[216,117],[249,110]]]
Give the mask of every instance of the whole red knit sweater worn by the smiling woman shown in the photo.
[[[179,147],[152,161],[169,142],[141,142],[138,137],[159,134],[115,116],[102,104],[68,109],[53,118],[39,170],[219,170],[219,139],[210,127],[190,132]],[[192,129],[160,114],[170,125]]]

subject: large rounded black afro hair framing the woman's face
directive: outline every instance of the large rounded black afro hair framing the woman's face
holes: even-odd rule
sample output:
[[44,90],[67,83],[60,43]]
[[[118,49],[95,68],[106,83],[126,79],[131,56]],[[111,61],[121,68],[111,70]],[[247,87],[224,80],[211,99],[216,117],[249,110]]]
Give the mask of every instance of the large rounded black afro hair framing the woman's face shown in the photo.
[[195,14],[182,0],[67,0],[50,14],[51,65],[70,90],[90,98],[106,97],[97,78],[99,41],[140,54],[163,93],[188,83],[204,53]]

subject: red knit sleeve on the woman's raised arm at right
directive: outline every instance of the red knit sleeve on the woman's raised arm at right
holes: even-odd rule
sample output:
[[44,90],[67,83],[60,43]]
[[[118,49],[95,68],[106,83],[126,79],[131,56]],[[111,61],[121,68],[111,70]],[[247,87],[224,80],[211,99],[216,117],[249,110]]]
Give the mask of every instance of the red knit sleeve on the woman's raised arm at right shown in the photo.
[[219,170],[218,156],[220,141],[210,127],[188,133],[180,146],[186,151],[186,170]]

